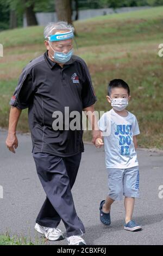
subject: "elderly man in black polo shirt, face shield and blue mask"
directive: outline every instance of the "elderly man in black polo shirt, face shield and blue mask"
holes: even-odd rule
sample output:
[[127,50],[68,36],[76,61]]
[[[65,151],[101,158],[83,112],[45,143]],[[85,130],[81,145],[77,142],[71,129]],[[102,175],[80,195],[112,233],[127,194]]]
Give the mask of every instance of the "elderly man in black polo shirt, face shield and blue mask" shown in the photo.
[[[58,130],[53,125],[55,112],[60,111],[64,120],[67,118],[65,107],[70,113],[79,113],[78,123],[83,110],[94,112],[96,96],[84,60],[73,55],[73,32],[74,28],[66,22],[46,26],[47,51],[23,69],[11,97],[6,145],[15,153],[17,122],[22,109],[28,108],[33,157],[47,196],[36,218],[35,229],[49,240],[61,240],[64,234],[57,227],[62,220],[68,245],[85,245],[84,225],[76,213],[71,193],[84,151],[82,124],[81,129],[70,129],[63,121],[63,129]],[[95,118],[90,121],[95,143],[101,136]]]

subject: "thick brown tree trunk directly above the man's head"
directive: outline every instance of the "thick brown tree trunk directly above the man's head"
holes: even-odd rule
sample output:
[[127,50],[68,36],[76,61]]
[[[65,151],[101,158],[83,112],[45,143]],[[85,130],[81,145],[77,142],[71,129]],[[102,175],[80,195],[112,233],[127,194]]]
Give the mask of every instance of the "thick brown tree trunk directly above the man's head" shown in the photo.
[[55,11],[58,21],[67,21],[72,24],[71,0],[55,0]]

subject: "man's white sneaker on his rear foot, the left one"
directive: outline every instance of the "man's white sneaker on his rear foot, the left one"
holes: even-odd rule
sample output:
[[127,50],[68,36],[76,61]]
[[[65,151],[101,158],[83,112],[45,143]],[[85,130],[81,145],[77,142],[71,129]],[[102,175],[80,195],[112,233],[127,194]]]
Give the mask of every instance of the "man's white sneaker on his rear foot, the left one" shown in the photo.
[[65,238],[64,232],[58,228],[47,228],[36,223],[35,230],[41,234],[44,234],[45,237],[51,241],[63,240]]

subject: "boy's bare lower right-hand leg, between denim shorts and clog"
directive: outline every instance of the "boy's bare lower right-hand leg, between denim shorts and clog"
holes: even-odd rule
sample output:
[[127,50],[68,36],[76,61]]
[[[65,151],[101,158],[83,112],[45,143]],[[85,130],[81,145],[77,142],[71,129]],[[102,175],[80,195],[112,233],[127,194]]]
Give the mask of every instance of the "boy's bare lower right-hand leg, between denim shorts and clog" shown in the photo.
[[125,197],[124,198],[124,208],[126,210],[125,222],[128,223],[132,220],[133,211],[134,211],[135,198],[134,197]]

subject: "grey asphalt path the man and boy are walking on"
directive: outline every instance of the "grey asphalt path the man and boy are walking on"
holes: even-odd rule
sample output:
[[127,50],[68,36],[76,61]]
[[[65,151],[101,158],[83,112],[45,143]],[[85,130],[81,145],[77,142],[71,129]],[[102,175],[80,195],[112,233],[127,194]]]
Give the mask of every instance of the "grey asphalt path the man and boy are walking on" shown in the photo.
[[[0,131],[0,234],[27,236],[42,243],[42,236],[34,230],[35,219],[45,192],[37,177],[31,154],[30,135],[18,134],[16,154],[5,148],[7,132]],[[162,245],[163,199],[159,187],[163,185],[163,153],[137,150],[140,164],[140,199],[136,199],[134,220],[142,224],[139,232],[123,229],[123,201],[111,208],[111,225],[99,222],[99,203],[108,193],[104,148],[96,149],[85,144],[76,183],[72,189],[78,216],[85,225],[84,239],[87,245]],[[161,192],[160,192],[161,194]],[[162,192],[163,195],[163,192]],[[59,228],[65,231],[61,222]],[[49,245],[66,245],[66,240],[47,242]]]

